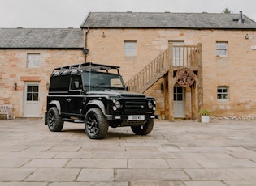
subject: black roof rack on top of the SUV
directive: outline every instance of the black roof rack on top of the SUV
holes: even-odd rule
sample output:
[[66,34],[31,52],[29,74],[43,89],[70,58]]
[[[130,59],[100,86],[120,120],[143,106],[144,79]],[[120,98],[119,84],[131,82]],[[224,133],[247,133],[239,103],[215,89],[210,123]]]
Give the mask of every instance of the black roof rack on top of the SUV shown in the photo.
[[108,73],[108,70],[115,69],[117,70],[117,73],[119,74],[119,66],[108,66],[108,65],[102,65],[102,64],[96,64],[92,62],[86,62],[81,64],[76,64],[72,66],[62,66],[55,68],[52,71],[52,75],[65,75],[65,74],[75,74],[82,71],[100,71],[100,70],[106,70]]

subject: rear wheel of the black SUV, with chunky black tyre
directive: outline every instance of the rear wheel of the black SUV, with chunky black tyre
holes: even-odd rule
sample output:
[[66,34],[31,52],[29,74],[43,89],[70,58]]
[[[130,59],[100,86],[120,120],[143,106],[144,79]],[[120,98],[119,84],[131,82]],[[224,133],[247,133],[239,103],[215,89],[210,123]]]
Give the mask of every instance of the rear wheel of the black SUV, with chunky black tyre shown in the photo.
[[47,112],[47,125],[50,131],[60,132],[63,129],[63,118],[59,116],[56,107],[50,108]]

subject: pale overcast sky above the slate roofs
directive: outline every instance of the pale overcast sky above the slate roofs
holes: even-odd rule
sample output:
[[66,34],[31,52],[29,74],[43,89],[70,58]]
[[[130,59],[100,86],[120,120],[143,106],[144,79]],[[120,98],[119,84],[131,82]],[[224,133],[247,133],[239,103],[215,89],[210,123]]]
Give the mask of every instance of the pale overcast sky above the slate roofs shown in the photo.
[[255,0],[0,0],[0,27],[80,27],[90,11],[232,13],[256,21]]

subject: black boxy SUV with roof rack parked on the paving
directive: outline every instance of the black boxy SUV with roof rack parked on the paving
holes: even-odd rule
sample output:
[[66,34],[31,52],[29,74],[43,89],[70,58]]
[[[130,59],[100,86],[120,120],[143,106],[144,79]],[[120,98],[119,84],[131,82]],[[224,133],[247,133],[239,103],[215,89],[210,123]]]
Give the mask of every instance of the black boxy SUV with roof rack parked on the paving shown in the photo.
[[146,135],[158,117],[155,104],[152,97],[125,90],[119,66],[63,66],[50,76],[45,124],[59,132],[64,121],[85,123],[91,139],[105,137],[109,126],[131,126],[133,133]]

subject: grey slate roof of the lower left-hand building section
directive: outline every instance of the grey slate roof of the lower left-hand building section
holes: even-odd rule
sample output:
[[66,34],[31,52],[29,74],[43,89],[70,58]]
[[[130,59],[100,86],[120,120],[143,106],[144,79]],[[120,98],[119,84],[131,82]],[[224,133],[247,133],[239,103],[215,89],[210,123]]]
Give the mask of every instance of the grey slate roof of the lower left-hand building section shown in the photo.
[[0,49],[82,49],[80,28],[0,28]]

